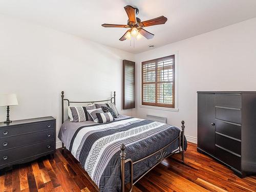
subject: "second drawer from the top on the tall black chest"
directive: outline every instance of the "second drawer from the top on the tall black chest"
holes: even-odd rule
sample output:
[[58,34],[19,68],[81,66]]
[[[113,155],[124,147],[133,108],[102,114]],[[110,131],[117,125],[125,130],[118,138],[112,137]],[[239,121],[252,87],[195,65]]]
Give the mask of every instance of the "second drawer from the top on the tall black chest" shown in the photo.
[[242,113],[241,110],[216,107],[216,118],[241,124]]

